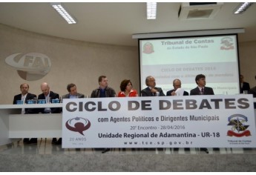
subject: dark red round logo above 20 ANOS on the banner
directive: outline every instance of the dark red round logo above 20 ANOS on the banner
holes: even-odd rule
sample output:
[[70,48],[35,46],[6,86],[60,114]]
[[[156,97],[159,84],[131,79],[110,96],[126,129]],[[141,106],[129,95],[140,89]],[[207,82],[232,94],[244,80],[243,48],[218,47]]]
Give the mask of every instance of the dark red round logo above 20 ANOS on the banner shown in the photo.
[[90,127],[91,122],[88,119],[78,116],[76,118],[69,119],[66,122],[66,128],[68,128],[68,130],[81,133],[83,136],[85,136],[83,132],[88,130]]

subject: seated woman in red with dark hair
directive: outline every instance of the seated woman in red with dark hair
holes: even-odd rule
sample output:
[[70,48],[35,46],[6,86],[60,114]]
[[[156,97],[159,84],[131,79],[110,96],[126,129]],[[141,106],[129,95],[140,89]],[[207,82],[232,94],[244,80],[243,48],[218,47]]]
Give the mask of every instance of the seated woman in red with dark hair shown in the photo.
[[130,79],[122,80],[120,90],[121,91],[118,93],[118,97],[138,96],[137,90],[132,89]]

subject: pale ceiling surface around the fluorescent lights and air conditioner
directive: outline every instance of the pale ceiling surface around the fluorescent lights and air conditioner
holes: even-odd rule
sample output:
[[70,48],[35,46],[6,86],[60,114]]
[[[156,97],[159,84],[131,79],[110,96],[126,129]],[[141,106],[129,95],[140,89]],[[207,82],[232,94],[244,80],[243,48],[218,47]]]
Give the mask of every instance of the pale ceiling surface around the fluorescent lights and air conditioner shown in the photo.
[[256,41],[256,4],[241,14],[238,2],[224,3],[214,19],[178,19],[180,2],[158,2],[157,19],[146,19],[145,2],[64,2],[77,24],[68,24],[47,2],[0,3],[0,23],[85,42],[137,46],[135,33],[244,28],[240,42]]

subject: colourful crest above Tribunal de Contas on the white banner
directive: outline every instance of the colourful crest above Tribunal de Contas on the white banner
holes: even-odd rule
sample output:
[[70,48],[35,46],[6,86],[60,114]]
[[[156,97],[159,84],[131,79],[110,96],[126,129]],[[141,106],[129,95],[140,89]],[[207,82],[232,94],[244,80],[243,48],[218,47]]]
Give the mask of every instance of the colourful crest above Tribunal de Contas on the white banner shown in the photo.
[[248,122],[248,119],[246,116],[243,116],[241,114],[234,114],[232,116],[229,116],[229,124],[232,126],[231,130],[228,131],[228,136],[251,136],[251,132],[247,130],[249,125],[246,125],[246,122]]

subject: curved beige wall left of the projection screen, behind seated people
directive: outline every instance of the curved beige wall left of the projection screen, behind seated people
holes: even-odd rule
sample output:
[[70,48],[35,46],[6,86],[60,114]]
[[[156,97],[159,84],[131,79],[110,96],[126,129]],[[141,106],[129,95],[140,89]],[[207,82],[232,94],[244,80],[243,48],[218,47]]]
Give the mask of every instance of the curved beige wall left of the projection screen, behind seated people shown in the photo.
[[51,60],[50,73],[44,78],[27,82],[30,93],[41,93],[40,85],[48,82],[50,90],[60,95],[68,93],[68,83],[76,84],[78,91],[91,95],[98,87],[98,77],[108,76],[110,87],[119,91],[122,79],[131,79],[139,90],[139,61],[137,47],[79,42],[59,39],[19,30],[0,24],[0,104],[12,104],[24,81],[17,71],[5,63],[13,53],[43,53]]

